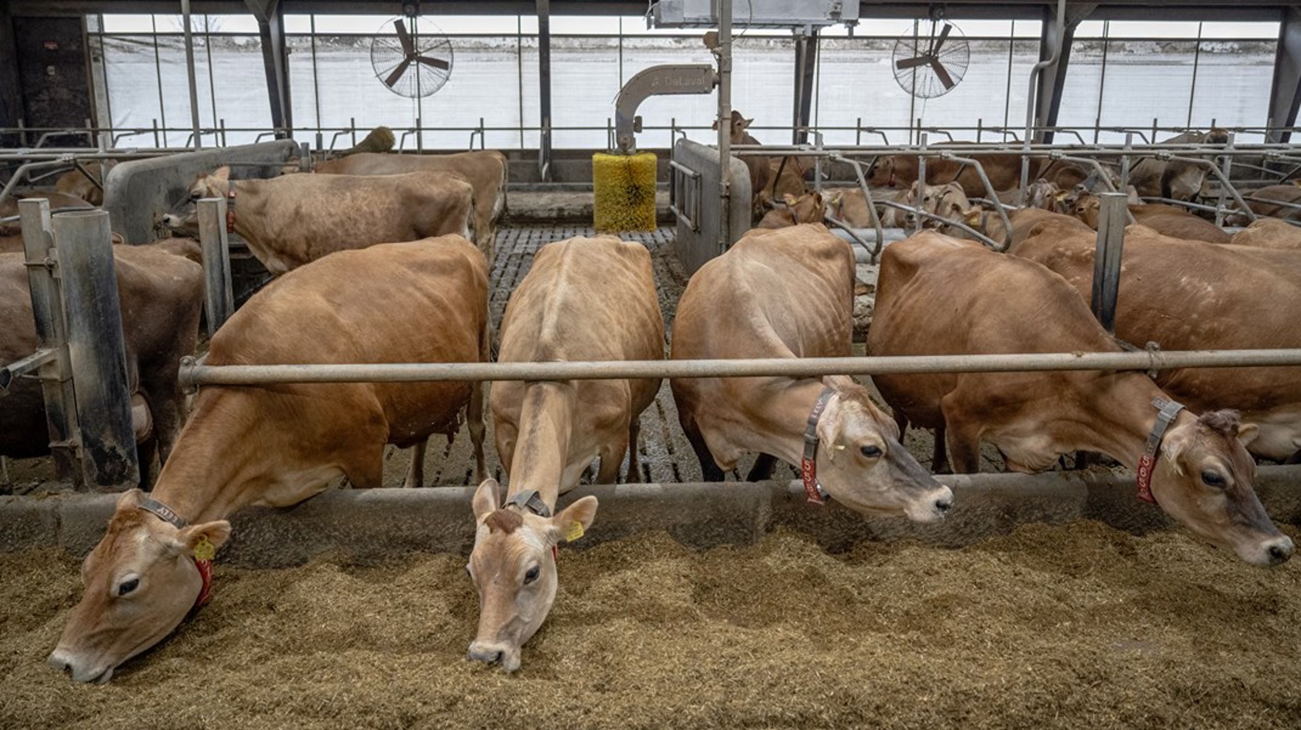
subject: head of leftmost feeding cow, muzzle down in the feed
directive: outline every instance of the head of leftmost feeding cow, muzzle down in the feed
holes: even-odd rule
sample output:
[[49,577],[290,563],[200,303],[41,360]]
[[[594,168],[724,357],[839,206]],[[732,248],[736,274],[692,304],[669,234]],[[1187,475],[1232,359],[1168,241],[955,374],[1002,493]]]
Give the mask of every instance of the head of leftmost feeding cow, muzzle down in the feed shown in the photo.
[[77,682],[108,682],[124,661],[172,632],[199,597],[194,549],[221,547],[226,520],[183,530],[141,509],[144,493],[125,492],[108,532],[82,562],[82,600],[68,617],[49,665]]

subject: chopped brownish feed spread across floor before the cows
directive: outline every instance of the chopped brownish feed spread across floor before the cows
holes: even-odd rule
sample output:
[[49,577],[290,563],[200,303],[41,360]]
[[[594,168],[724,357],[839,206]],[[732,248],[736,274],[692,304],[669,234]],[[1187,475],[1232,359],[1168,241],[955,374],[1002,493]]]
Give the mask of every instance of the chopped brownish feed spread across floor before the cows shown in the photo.
[[88,687],[43,664],[77,562],[3,556],[0,726],[1301,726],[1301,570],[1184,532],[562,549],[556,609],[516,675],[463,658],[463,565],[219,566],[207,608]]

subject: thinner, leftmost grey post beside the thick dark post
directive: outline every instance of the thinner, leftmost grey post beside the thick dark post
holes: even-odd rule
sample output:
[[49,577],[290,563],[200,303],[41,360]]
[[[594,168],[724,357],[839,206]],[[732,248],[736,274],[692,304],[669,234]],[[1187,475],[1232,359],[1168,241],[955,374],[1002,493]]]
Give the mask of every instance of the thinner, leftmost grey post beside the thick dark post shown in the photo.
[[68,329],[64,324],[64,302],[59,280],[53,275],[55,238],[49,223],[49,200],[18,200],[22,221],[22,246],[27,260],[27,285],[31,291],[31,315],[36,324],[36,346],[52,350],[55,359],[40,367],[40,388],[46,401],[46,428],[55,475],[85,488],[78,467],[77,396],[73,392],[72,364],[68,359]]

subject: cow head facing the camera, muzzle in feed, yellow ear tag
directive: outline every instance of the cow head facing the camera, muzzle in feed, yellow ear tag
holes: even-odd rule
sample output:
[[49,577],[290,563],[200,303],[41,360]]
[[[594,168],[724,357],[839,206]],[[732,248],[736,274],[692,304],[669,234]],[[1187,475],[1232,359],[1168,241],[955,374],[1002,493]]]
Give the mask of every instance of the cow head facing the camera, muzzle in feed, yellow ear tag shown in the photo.
[[500,507],[497,480],[475,491],[475,548],[470,578],[479,591],[479,634],[470,658],[519,669],[519,649],[537,632],[556,600],[556,553],[576,540],[596,518],[596,497],[583,497],[554,517],[515,506]]

